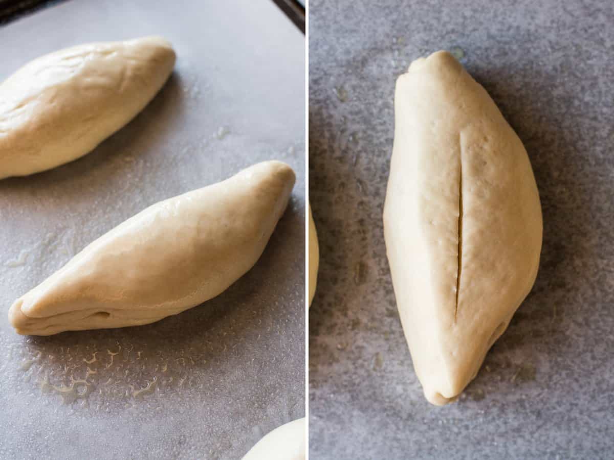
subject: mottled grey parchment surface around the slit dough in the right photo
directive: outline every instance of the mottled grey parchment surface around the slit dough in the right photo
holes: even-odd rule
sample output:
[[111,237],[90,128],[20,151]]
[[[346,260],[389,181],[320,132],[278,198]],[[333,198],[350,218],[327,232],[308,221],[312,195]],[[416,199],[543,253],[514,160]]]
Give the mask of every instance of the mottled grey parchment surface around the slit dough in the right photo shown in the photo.
[[[311,459],[607,459],[614,448],[614,4],[311,0]],[[461,57],[518,132],[543,208],[535,287],[456,404],[414,374],[381,215],[396,77]]]

